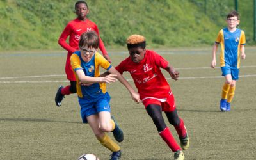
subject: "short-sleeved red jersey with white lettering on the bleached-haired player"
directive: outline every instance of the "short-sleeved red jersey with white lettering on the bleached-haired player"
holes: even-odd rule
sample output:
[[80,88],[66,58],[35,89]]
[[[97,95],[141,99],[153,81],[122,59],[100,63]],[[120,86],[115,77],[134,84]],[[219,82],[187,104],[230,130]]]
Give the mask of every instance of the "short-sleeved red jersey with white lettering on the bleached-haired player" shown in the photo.
[[134,63],[130,57],[122,61],[116,70],[130,72],[132,79],[138,88],[140,99],[145,97],[166,98],[171,88],[166,81],[160,68],[166,68],[168,61],[154,51],[146,50],[145,56],[140,63]]

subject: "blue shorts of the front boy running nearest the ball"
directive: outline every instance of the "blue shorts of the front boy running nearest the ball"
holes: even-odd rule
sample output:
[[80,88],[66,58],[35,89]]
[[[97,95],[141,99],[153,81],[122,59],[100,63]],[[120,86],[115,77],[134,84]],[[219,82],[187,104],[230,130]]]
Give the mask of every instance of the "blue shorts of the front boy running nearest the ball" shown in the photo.
[[96,115],[101,111],[111,112],[110,109],[110,96],[108,92],[100,95],[96,99],[86,99],[78,97],[78,102],[81,107],[81,118],[83,123],[88,123],[86,117],[90,115]]

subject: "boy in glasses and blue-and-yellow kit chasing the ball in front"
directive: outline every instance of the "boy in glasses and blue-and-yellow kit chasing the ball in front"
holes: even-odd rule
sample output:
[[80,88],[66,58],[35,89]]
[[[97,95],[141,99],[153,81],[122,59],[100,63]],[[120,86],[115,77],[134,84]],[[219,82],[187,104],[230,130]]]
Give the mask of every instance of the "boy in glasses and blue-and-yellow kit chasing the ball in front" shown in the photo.
[[[110,96],[106,91],[106,83],[112,83],[118,79],[131,93],[135,102],[140,102],[140,97],[124,77],[97,52],[98,47],[99,36],[95,31],[83,33],[79,41],[80,51],[74,52],[70,60],[76,76],[77,95],[83,123],[90,125],[100,143],[113,152],[111,159],[115,160],[120,159],[121,150],[106,132],[113,132],[113,136],[118,142],[123,141],[124,134],[115,118],[111,116]],[[100,67],[108,70],[110,74],[99,77]]]

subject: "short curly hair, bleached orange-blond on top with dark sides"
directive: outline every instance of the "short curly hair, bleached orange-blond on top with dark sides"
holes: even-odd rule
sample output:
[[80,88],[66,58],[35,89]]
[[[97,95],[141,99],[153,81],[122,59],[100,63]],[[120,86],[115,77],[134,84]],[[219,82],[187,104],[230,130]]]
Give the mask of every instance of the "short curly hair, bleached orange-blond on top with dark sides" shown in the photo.
[[141,47],[145,49],[146,47],[146,38],[141,35],[131,35],[126,40],[128,50],[134,47]]

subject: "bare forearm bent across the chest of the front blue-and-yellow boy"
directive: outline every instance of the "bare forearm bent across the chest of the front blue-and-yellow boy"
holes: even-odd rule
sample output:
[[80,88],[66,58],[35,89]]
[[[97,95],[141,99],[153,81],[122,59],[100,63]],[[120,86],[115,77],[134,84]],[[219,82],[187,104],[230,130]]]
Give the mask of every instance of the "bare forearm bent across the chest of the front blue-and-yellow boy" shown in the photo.
[[116,74],[109,74],[104,77],[90,77],[90,76],[85,76],[83,70],[76,70],[77,77],[81,83],[113,83],[115,82],[116,79]]

